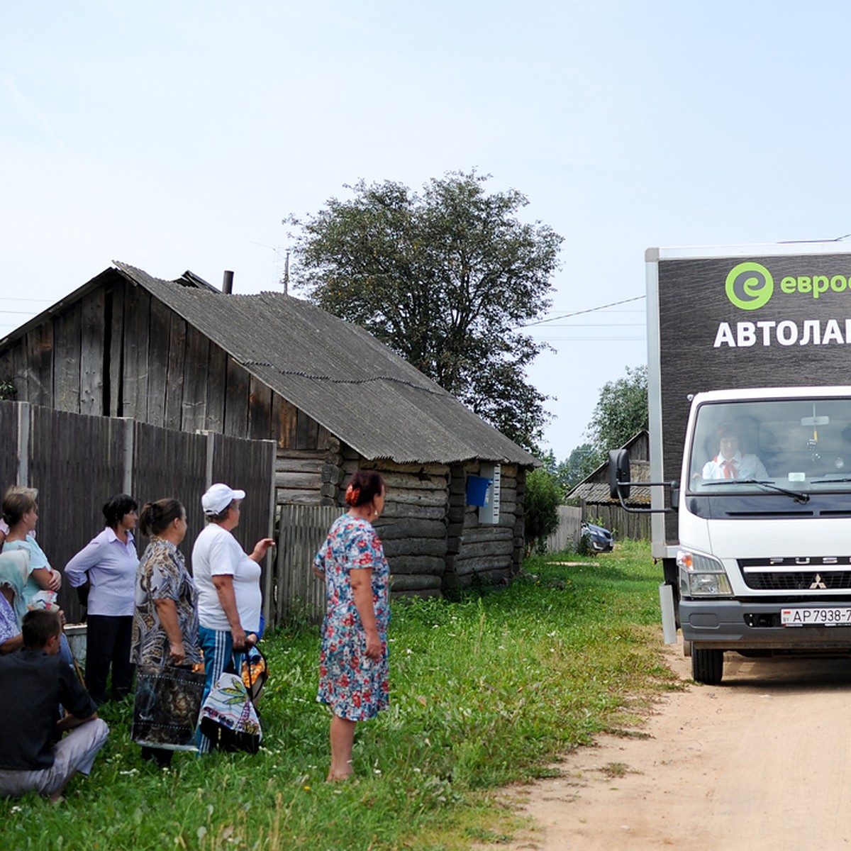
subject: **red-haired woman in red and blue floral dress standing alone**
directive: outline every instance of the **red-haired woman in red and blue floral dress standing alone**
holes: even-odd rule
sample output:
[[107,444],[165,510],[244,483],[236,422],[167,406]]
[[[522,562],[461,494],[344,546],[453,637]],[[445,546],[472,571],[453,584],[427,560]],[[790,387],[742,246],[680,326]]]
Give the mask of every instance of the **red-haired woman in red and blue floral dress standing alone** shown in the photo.
[[387,707],[390,568],[372,526],[384,498],[380,475],[357,471],[346,488],[349,511],[334,522],[313,560],[314,572],[325,580],[328,600],[317,694],[317,701],[328,704],[333,713],[328,780],[351,775],[357,722]]

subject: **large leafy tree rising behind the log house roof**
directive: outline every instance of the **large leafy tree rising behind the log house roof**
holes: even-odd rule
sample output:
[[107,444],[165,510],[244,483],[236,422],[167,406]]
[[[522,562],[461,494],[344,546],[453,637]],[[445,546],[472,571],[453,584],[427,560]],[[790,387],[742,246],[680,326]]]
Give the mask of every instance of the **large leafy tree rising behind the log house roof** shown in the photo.
[[295,229],[296,287],[379,340],[512,440],[534,449],[548,414],[526,379],[545,348],[523,325],[550,306],[562,237],[524,224],[516,190],[451,172],[421,193],[390,180],[346,186]]

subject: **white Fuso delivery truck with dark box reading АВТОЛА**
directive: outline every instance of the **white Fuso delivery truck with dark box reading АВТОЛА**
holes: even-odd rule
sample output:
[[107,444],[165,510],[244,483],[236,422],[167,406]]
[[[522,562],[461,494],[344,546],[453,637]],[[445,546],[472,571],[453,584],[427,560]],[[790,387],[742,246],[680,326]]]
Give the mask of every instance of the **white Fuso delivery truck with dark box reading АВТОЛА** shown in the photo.
[[[676,619],[709,684],[728,651],[848,654],[851,248],[650,248],[646,260],[666,634]],[[627,495],[623,450],[610,477]]]

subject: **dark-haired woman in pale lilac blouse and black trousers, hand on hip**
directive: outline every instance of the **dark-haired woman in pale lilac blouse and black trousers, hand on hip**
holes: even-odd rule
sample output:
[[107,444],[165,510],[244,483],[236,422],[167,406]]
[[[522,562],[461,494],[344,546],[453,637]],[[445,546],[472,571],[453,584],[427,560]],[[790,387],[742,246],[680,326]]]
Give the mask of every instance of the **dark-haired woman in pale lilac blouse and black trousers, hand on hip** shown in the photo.
[[86,688],[95,703],[106,700],[106,677],[112,669],[113,700],[133,687],[130,663],[133,604],[139,556],[133,529],[138,518],[136,500],[117,494],[103,507],[106,528],[66,564],[71,586],[89,586],[86,616]]

